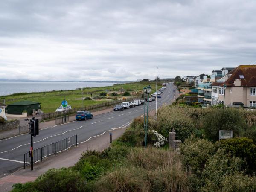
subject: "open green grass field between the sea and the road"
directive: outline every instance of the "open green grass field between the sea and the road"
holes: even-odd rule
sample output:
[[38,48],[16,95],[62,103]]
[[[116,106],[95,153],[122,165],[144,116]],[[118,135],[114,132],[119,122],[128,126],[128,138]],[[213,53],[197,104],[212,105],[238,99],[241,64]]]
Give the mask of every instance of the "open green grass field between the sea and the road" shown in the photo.
[[[140,92],[142,93],[143,87],[150,85],[152,87],[151,93],[156,91],[156,83],[155,82],[134,82],[134,83],[126,83],[126,84],[115,84],[113,86],[108,87],[93,87],[93,88],[81,88],[81,90],[65,90],[65,91],[50,91],[50,92],[39,92],[39,93],[16,93],[9,96],[0,96],[0,102],[3,102],[3,98],[6,99],[6,104],[11,104],[13,102],[18,101],[34,101],[41,103],[41,109],[44,113],[54,112],[56,108],[61,105],[61,102],[66,97],[66,100],[72,108],[79,108],[83,106],[100,104],[103,102],[113,100],[111,99],[102,99],[102,100],[92,100],[92,101],[83,101],[82,97],[91,96],[91,93],[94,95],[99,95],[101,92],[119,92],[121,88],[127,91]],[[161,86],[161,83],[159,83]],[[83,93],[83,95],[82,95]],[[121,99],[119,97],[118,99]]]

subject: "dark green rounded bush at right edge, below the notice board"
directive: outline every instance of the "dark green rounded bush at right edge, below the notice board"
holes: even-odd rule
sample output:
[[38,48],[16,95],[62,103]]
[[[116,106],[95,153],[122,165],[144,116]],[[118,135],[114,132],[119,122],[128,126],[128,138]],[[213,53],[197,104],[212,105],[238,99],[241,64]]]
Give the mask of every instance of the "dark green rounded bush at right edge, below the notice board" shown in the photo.
[[256,171],[256,145],[253,140],[248,138],[233,138],[228,140],[220,140],[219,148],[224,148],[226,153],[234,157],[240,157],[246,162],[243,166],[249,172]]

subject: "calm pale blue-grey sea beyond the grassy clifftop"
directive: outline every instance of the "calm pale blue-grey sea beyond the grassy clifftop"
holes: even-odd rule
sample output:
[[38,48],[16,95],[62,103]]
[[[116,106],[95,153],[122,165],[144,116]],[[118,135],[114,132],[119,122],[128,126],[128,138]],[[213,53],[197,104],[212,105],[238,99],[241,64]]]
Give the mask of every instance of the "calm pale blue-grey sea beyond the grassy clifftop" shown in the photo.
[[115,82],[6,82],[0,81],[0,96],[13,93],[32,93],[52,90],[75,90],[84,87],[105,87]]

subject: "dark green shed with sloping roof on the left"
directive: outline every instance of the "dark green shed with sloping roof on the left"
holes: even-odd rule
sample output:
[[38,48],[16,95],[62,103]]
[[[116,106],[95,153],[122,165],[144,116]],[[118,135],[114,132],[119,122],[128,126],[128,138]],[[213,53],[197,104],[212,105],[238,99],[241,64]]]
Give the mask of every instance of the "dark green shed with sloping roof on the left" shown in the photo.
[[32,113],[32,109],[41,109],[39,102],[20,101],[7,105],[8,114],[21,115],[23,111],[27,111],[28,114]]

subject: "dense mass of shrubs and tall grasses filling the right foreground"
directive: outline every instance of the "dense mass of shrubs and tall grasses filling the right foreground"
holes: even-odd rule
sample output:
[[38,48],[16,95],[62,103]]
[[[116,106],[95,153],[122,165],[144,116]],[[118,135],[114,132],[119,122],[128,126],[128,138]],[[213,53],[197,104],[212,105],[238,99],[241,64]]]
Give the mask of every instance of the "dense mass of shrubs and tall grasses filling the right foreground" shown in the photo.
[[[143,118],[104,151],[81,154],[75,166],[50,169],[13,192],[248,192],[256,190],[256,111],[165,106],[149,119],[145,148]],[[181,140],[169,148],[169,131]],[[218,130],[233,139],[218,141]]]

